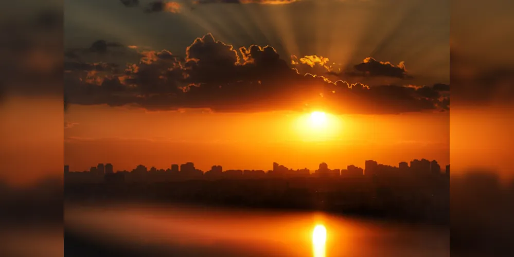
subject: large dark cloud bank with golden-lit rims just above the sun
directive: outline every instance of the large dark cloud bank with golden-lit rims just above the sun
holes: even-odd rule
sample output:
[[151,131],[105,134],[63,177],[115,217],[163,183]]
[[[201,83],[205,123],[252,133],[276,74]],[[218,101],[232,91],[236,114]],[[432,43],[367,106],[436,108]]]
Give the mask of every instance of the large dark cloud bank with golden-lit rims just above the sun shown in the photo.
[[[272,46],[234,48],[212,34],[197,38],[185,57],[167,50],[143,51],[125,70],[108,64],[66,63],[70,103],[134,105],[148,110],[208,108],[215,112],[261,112],[322,107],[335,113],[440,111],[437,87],[367,86],[300,74]],[[324,59],[304,58],[324,65]],[[80,72],[82,70],[82,72]],[[92,72],[94,71],[94,72]],[[90,76],[90,78],[88,78]],[[101,79],[96,79],[101,77]],[[94,79],[93,79],[94,78]]]

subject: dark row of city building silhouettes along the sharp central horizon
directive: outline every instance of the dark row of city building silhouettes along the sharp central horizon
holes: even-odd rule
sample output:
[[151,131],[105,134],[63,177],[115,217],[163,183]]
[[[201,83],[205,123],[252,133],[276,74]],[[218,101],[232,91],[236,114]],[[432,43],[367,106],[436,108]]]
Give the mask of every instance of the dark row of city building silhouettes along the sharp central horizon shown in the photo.
[[[203,171],[194,167],[192,162],[181,164],[172,164],[171,169],[157,169],[151,167],[148,170],[144,165],[139,164],[131,172],[117,171],[114,172],[111,163],[99,163],[96,167],[91,167],[89,171],[72,172],[69,166],[64,166],[64,178],[66,182],[73,183],[119,183],[119,182],[167,182],[167,181],[182,181],[188,179],[260,179],[260,178],[273,178],[274,181],[284,181],[284,179],[308,178],[308,177],[321,177],[321,178],[373,178],[378,179],[395,179],[401,176],[409,178],[421,178],[423,181],[428,177],[442,179],[449,176],[450,165],[446,166],[445,174],[441,173],[441,167],[436,160],[429,161],[427,159],[412,160],[411,165],[407,162],[399,162],[398,167],[379,164],[374,160],[365,161],[365,169],[355,165],[347,166],[347,169],[329,169],[326,162],[319,164],[319,168],[310,173],[309,169],[289,169],[277,162],[273,163],[273,170],[265,172],[263,170],[227,170],[223,171],[223,167],[219,165],[212,166],[211,169],[205,174]],[[180,169],[179,169],[180,168]],[[116,176],[114,176],[116,175]],[[275,180],[278,179],[278,180]],[[359,182],[360,180],[356,180]],[[386,181],[386,180],[384,180]],[[393,180],[391,180],[393,181]]]

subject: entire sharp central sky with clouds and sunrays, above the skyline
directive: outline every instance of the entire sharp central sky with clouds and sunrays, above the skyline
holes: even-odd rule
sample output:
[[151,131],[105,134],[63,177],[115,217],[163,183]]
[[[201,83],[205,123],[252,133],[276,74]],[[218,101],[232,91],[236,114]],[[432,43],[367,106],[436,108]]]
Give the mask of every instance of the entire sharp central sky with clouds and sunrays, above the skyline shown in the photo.
[[[76,0],[65,10],[71,170],[449,163],[447,1]],[[326,127],[302,123],[313,111]]]

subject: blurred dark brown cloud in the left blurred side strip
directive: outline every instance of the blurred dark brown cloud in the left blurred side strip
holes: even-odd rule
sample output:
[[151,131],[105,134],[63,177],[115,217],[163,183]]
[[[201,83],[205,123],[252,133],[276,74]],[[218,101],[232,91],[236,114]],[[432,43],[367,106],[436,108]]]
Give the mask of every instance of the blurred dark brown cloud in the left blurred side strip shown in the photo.
[[0,103],[11,94],[62,94],[62,9],[39,8],[0,23]]

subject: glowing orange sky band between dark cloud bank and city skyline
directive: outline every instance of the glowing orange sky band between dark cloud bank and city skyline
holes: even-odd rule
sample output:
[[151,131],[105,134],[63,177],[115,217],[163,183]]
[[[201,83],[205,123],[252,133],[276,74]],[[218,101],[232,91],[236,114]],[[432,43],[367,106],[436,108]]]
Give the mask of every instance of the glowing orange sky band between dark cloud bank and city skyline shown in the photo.
[[[269,170],[363,166],[366,159],[397,165],[414,158],[449,163],[449,114],[329,115],[325,130],[299,126],[297,112],[146,112],[126,107],[72,105],[65,119],[65,161],[73,171],[99,162],[115,170],[137,164],[168,168],[192,161],[208,170]],[[308,114],[307,114],[308,115]],[[334,126],[337,122],[339,125]],[[326,135],[326,136],[325,136]]]

